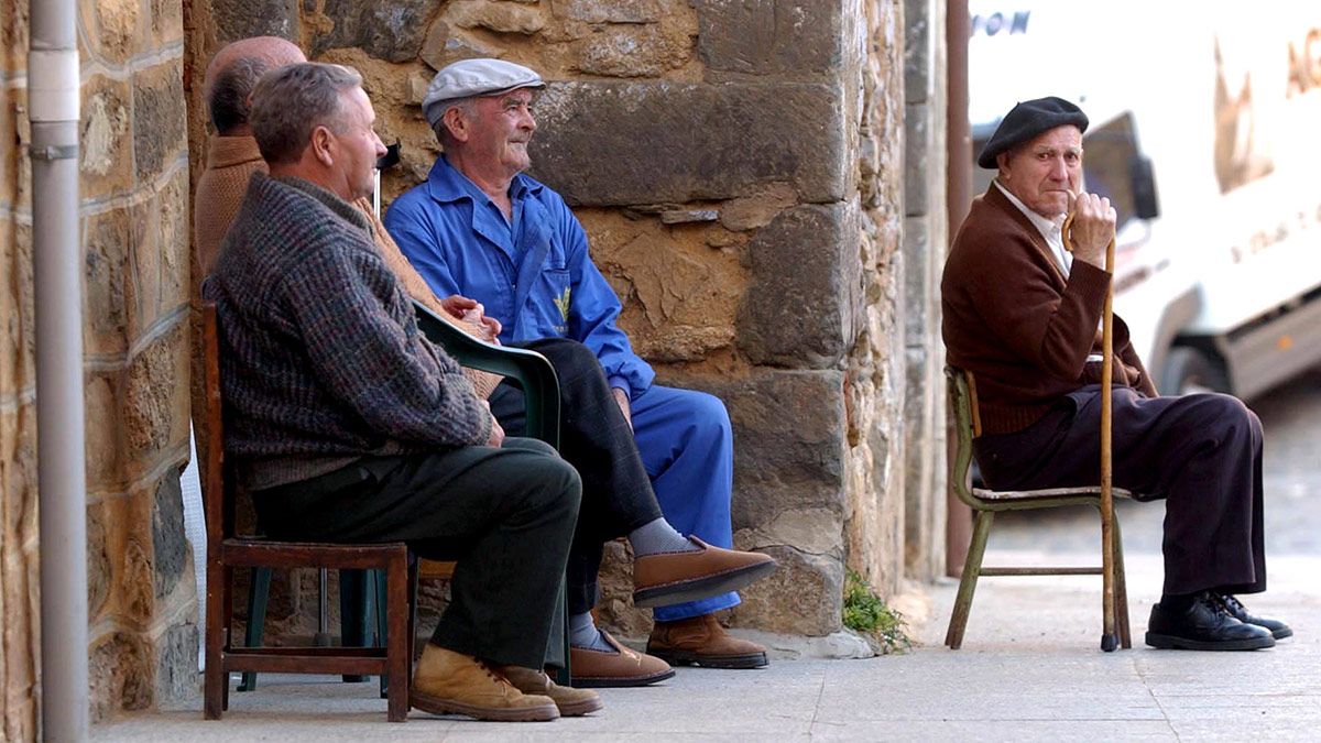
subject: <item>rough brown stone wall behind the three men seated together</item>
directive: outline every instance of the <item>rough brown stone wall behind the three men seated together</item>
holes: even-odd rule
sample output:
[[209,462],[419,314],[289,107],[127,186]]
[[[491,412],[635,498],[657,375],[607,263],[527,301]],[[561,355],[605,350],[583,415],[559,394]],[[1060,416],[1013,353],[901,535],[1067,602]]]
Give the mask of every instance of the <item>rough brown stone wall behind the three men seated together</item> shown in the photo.
[[[192,79],[227,41],[275,33],[359,69],[403,164],[437,155],[420,102],[436,69],[494,56],[552,81],[534,175],[560,190],[668,383],[719,394],[736,430],[736,543],[781,559],[741,625],[840,627],[845,561],[902,574],[902,8],[898,0],[210,0],[189,12]],[[205,123],[190,87],[194,172]],[[613,545],[601,615],[625,636]],[[299,588],[299,584],[303,588]],[[310,580],[276,590],[308,632]]]

